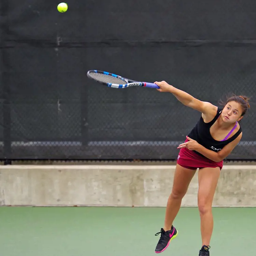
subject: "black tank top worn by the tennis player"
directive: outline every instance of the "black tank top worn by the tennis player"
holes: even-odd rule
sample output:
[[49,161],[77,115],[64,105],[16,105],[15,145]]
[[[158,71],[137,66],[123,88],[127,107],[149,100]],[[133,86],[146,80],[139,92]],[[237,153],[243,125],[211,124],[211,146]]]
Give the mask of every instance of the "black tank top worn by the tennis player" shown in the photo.
[[[235,140],[239,136],[239,134],[242,132],[242,129],[240,126],[239,130],[227,140],[224,140],[224,141],[214,140],[210,133],[210,127],[215,123],[215,121],[217,120],[221,112],[222,112],[222,109],[218,108],[216,116],[209,123],[204,123],[204,120],[201,116],[196,126],[188,134],[188,137],[193,140],[196,140],[199,144],[201,144],[202,146],[204,146],[209,150],[212,150],[215,152],[222,150],[224,146],[226,146],[228,143]],[[194,151],[194,152],[200,156],[203,156],[197,151]]]

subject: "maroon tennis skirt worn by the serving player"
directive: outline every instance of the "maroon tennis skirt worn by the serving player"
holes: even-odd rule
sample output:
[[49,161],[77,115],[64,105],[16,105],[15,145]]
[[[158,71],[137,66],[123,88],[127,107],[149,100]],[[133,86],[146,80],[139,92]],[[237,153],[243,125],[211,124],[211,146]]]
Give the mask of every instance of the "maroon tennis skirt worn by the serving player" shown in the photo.
[[[188,140],[186,139],[185,142]],[[186,147],[180,149],[179,156],[177,158],[177,164],[187,169],[197,169],[197,168],[205,168],[205,167],[219,167],[222,169],[223,160],[220,162],[214,162],[209,158],[202,157],[195,153],[194,151],[188,150]]]

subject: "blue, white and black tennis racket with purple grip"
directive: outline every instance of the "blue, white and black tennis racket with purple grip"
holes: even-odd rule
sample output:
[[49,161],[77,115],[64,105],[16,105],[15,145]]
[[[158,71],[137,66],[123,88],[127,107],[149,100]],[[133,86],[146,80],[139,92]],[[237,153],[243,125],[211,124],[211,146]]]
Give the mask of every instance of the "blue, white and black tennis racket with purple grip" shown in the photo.
[[127,88],[130,86],[143,86],[148,88],[160,88],[158,85],[153,83],[138,82],[127,79],[120,75],[115,75],[106,71],[100,70],[89,70],[87,76],[103,85],[111,88]]

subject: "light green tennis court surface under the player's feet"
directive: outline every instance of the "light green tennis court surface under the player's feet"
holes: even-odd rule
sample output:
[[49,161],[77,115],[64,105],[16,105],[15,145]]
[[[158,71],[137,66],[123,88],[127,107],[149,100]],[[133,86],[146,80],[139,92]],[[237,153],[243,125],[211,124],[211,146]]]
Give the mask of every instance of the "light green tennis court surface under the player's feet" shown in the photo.
[[[255,255],[256,208],[213,208],[211,256]],[[1,255],[140,256],[154,252],[165,208],[0,207]],[[178,236],[161,255],[197,256],[197,208],[181,208]]]

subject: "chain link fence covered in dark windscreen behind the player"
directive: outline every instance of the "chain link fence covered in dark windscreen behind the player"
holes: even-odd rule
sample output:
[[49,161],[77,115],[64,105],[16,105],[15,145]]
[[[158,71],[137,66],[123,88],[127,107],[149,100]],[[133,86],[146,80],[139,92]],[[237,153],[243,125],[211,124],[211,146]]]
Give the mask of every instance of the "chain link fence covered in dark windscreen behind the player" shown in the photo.
[[[255,26],[247,26],[252,25],[255,4],[247,2],[242,11],[233,6],[236,10],[223,14],[221,9],[210,11],[210,3],[196,9],[200,19],[197,12],[177,5],[173,14],[180,10],[192,16],[177,12],[169,20],[170,15],[160,19],[167,15],[165,5],[150,1],[144,6],[144,22],[138,23],[115,16],[118,10],[106,12],[104,8],[119,1],[98,2],[101,9],[94,1],[85,6],[78,1],[65,14],[41,1],[34,1],[26,13],[2,3],[9,20],[1,27],[0,158],[175,160],[177,145],[200,113],[171,94],[106,88],[87,79],[87,70],[99,69],[133,80],[165,80],[215,105],[230,93],[250,96],[242,141],[227,159],[255,160],[256,41],[247,39],[255,38]],[[123,15],[134,8],[123,5]],[[227,21],[232,10],[237,15]],[[153,24],[146,14],[159,16],[159,22]],[[22,22],[26,17],[34,17],[33,25]],[[240,27],[235,28],[238,18]],[[226,20],[226,27],[219,20]]]

